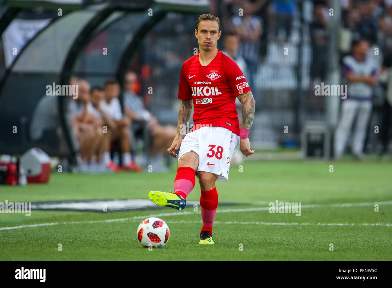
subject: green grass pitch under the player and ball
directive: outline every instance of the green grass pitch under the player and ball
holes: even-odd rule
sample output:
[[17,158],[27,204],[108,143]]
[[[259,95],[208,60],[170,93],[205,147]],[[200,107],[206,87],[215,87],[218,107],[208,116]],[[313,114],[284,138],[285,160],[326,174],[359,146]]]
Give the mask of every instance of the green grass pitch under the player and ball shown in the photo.
[[[247,161],[242,165],[243,172],[232,165],[229,181],[217,183],[219,201],[239,205],[218,206],[215,245],[198,244],[200,207],[198,212],[190,207],[106,213],[33,210],[30,217],[0,214],[0,260],[392,260],[390,163]],[[0,202],[145,198],[150,190],[170,191],[175,173],[174,167],[168,173],[55,173],[46,185],[0,186]],[[200,199],[197,181],[188,199]],[[269,213],[268,203],[276,200],[301,202],[301,216]],[[147,216],[160,217],[169,225],[170,239],[162,249],[150,251],[136,238],[136,228]]]

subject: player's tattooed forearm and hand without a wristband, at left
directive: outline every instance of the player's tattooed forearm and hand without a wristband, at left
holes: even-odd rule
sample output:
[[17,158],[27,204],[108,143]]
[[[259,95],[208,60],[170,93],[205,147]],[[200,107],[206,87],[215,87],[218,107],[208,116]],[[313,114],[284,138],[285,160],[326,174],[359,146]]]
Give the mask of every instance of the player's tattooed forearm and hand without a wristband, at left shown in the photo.
[[181,100],[180,108],[178,109],[178,124],[177,124],[177,135],[173,140],[172,145],[167,149],[167,152],[174,158],[177,158],[176,150],[180,148],[182,139],[185,137],[183,129],[187,127],[187,122],[191,118],[193,108],[193,100],[185,101]]

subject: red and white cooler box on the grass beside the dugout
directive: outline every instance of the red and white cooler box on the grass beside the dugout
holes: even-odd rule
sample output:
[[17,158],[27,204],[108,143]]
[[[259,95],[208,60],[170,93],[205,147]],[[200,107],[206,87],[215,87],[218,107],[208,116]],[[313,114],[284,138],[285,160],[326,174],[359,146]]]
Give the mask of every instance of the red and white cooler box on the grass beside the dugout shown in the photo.
[[50,158],[39,148],[31,148],[20,158],[27,183],[46,183],[50,176]]

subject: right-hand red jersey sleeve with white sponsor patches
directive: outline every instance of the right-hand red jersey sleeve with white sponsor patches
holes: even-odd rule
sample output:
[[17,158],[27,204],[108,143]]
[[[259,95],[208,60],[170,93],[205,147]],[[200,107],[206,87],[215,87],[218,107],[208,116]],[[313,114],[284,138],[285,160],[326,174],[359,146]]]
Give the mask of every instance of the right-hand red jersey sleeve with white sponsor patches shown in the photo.
[[249,84],[237,63],[227,57],[225,61],[225,77],[234,96],[250,91]]

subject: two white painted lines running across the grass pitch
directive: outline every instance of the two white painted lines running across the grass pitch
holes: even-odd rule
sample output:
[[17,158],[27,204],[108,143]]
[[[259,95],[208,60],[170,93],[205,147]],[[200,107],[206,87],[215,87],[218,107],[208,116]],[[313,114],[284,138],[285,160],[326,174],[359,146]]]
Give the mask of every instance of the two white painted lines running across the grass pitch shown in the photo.
[[[378,205],[392,205],[392,201],[384,201],[384,202],[365,202],[365,203],[343,203],[343,204],[314,204],[314,205],[302,205],[301,208],[315,208],[315,207],[358,207],[358,206],[373,206],[374,204]],[[259,208],[244,208],[244,209],[224,209],[224,210],[216,210],[216,213],[230,213],[230,212],[249,212],[249,211],[265,211],[270,207],[259,207]],[[161,213],[156,215],[148,215],[148,216],[134,216],[127,218],[117,218],[117,219],[106,219],[106,220],[91,220],[91,221],[71,221],[71,222],[52,222],[52,223],[39,223],[39,224],[30,224],[30,225],[20,225],[20,226],[12,226],[12,227],[0,227],[0,230],[11,230],[11,229],[20,229],[20,228],[29,228],[29,227],[41,227],[41,226],[54,226],[60,224],[86,224],[86,223],[110,223],[110,222],[119,222],[119,221],[136,221],[137,219],[145,219],[148,217],[162,217],[162,216],[176,216],[176,215],[189,215],[189,214],[201,214],[201,212],[174,212],[174,213]],[[165,221],[167,223],[200,223],[199,221]],[[318,225],[318,226],[392,226],[391,223],[272,223],[272,222],[220,222],[215,221],[214,223],[221,224],[257,224],[257,225]]]

